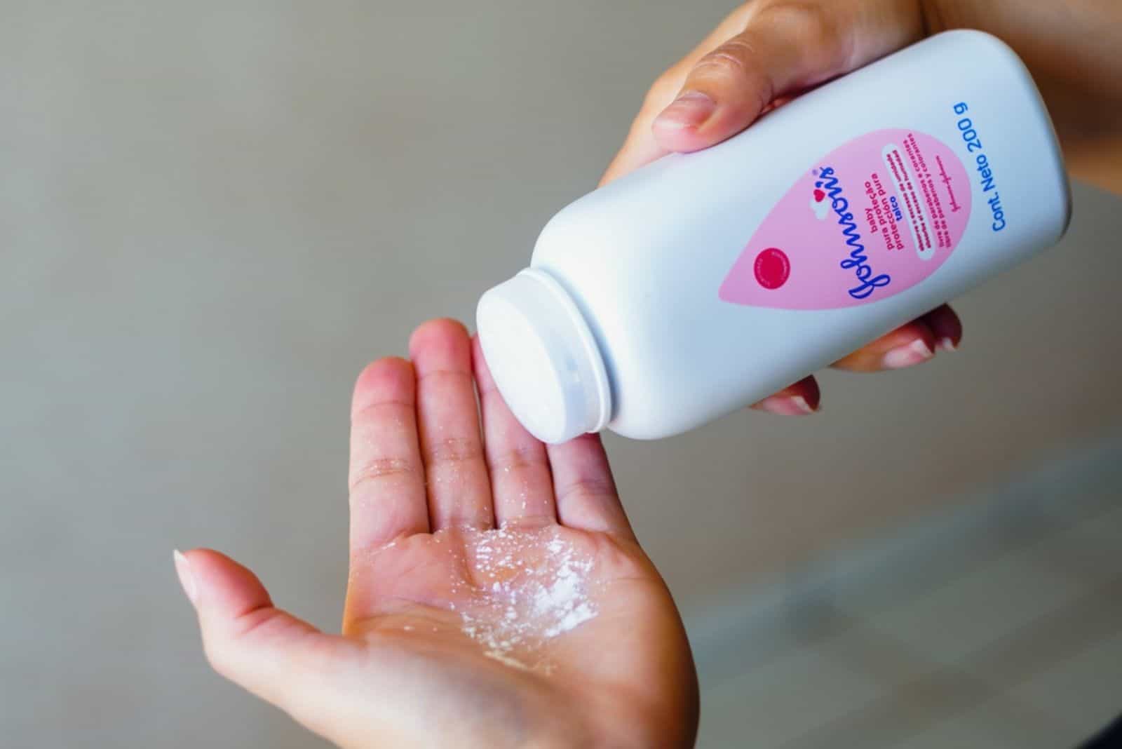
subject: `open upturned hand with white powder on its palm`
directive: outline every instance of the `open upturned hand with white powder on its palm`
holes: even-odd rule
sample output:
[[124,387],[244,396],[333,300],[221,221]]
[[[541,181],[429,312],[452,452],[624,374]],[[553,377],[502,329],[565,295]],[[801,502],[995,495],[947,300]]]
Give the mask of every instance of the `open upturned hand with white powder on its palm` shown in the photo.
[[689,647],[599,440],[534,440],[458,323],[410,352],[355,388],[342,635],[177,556],[215,669],[343,747],[689,746]]

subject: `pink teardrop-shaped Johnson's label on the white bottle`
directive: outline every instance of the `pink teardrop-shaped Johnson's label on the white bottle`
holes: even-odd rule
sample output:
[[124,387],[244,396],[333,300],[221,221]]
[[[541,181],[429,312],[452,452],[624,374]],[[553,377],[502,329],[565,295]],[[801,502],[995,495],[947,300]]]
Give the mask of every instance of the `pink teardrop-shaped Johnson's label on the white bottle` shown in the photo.
[[787,192],[719,297],[782,309],[876,302],[946,262],[971,215],[966,168],[914,130],[876,130],[829,152]]

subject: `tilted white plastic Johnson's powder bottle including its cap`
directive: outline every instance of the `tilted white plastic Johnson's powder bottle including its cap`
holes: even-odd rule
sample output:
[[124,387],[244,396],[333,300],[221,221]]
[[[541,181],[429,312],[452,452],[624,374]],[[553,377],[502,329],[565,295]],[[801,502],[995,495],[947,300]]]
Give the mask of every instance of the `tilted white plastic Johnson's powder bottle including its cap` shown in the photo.
[[540,440],[669,436],[1054,244],[1069,214],[1024,65],[947,31],[576,201],[482,296],[479,337]]

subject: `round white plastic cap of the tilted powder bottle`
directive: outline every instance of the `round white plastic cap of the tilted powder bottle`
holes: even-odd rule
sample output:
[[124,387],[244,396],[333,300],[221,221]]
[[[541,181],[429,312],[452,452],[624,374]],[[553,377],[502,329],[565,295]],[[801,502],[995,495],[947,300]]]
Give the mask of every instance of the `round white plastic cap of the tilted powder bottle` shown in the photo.
[[476,324],[498,391],[535,437],[559,443],[608,423],[611,396],[596,340],[549,274],[526,268],[484,294]]

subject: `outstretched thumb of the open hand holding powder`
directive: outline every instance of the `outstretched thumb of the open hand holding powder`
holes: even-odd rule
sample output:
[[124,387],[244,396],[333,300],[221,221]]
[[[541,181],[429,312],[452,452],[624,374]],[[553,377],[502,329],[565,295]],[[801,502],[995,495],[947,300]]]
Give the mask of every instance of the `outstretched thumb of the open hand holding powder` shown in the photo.
[[176,551],[174,560],[214,671],[305,724],[323,715],[329,706],[316,703],[348,644],[275,608],[257,576],[224,554]]

